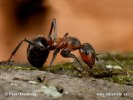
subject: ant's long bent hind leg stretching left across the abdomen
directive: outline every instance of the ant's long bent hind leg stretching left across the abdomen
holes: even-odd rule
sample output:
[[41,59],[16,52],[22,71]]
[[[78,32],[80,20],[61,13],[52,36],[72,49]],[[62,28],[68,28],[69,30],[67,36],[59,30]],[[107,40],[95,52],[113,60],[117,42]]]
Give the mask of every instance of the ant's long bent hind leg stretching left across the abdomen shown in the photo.
[[7,60],[7,62],[10,61],[11,58],[12,58],[12,56],[14,56],[16,54],[17,50],[20,48],[20,46],[22,45],[23,42],[27,42],[30,45],[36,46],[36,47],[41,48],[41,49],[45,49],[44,47],[41,47],[40,45],[38,45],[38,44],[36,44],[36,43],[34,43],[32,41],[29,41],[29,40],[27,40],[25,38],[24,40],[20,41],[19,44],[16,46],[16,48],[12,51],[11,56],[9,57],[9,59]]

